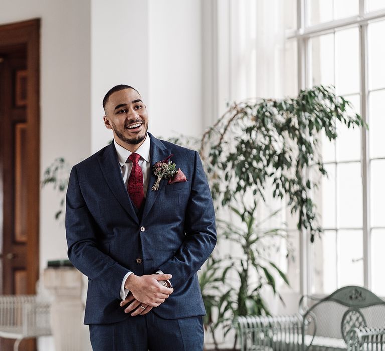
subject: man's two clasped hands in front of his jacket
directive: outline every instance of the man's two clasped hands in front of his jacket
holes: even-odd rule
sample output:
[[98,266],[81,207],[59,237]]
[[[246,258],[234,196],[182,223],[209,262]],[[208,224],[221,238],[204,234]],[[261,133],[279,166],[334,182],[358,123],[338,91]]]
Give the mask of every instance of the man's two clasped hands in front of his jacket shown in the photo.
[[131,274],[126,282],[125,288],[130,292],[120,302],[120,306],[128,306],[124,309],[125,313],[130,313],[131,316],[137,316],[138,314],[147,314],[153,307],[157,307],[162,304],[169,295],[174,291],[173,288],[167,288],[161,284],[161,280],[169,280],[172,278],[171,274],[150,274],[137,276]]

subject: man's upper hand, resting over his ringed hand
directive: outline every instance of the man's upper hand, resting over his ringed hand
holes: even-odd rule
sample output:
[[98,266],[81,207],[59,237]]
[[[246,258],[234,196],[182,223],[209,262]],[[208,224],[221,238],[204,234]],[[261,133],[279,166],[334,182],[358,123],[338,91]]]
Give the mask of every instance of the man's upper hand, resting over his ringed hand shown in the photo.
[[174,291],[173,288],[167,288],[159,284],[158,281],[171,278],[171,274],[151,274],[140,277],[131,274],[124,285],[126,289],[130,290],[131,295],[139,304],[142,303],[150,307],[157,307]]

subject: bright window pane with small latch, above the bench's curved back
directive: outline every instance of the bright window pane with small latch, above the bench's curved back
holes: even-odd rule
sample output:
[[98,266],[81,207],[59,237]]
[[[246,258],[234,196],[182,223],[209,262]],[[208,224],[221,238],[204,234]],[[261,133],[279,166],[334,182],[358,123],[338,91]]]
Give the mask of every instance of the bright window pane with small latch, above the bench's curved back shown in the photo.
[[338,287],[363,285],[362,231],[338,231],[337,248]]

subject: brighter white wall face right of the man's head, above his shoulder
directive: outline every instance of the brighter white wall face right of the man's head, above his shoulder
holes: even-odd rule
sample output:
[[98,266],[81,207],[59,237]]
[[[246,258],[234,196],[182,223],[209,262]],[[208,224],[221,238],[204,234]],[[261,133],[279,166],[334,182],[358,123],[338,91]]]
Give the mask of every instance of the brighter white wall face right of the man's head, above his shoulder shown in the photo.
[[198,136],[203,129],[201,1],[149,1],[149,131]]

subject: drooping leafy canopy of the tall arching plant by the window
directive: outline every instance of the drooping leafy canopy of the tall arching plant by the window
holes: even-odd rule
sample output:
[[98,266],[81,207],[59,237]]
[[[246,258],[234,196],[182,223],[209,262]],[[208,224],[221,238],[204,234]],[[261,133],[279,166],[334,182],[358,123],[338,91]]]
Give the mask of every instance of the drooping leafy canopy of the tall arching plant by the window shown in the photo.
[[367,125],[352,111],[349,101],[332,86],[301,90],[285,99],[247,99],[234,103],[201,140],[212,195],[228,206],[238,194],[265,200],[266,185],[273,198],[286,195],[297,228],[322,232],[311,199],[319,186],[310,171],[327,175],[319,153],[320,135],[337,137],[336,121],[347,128]]

